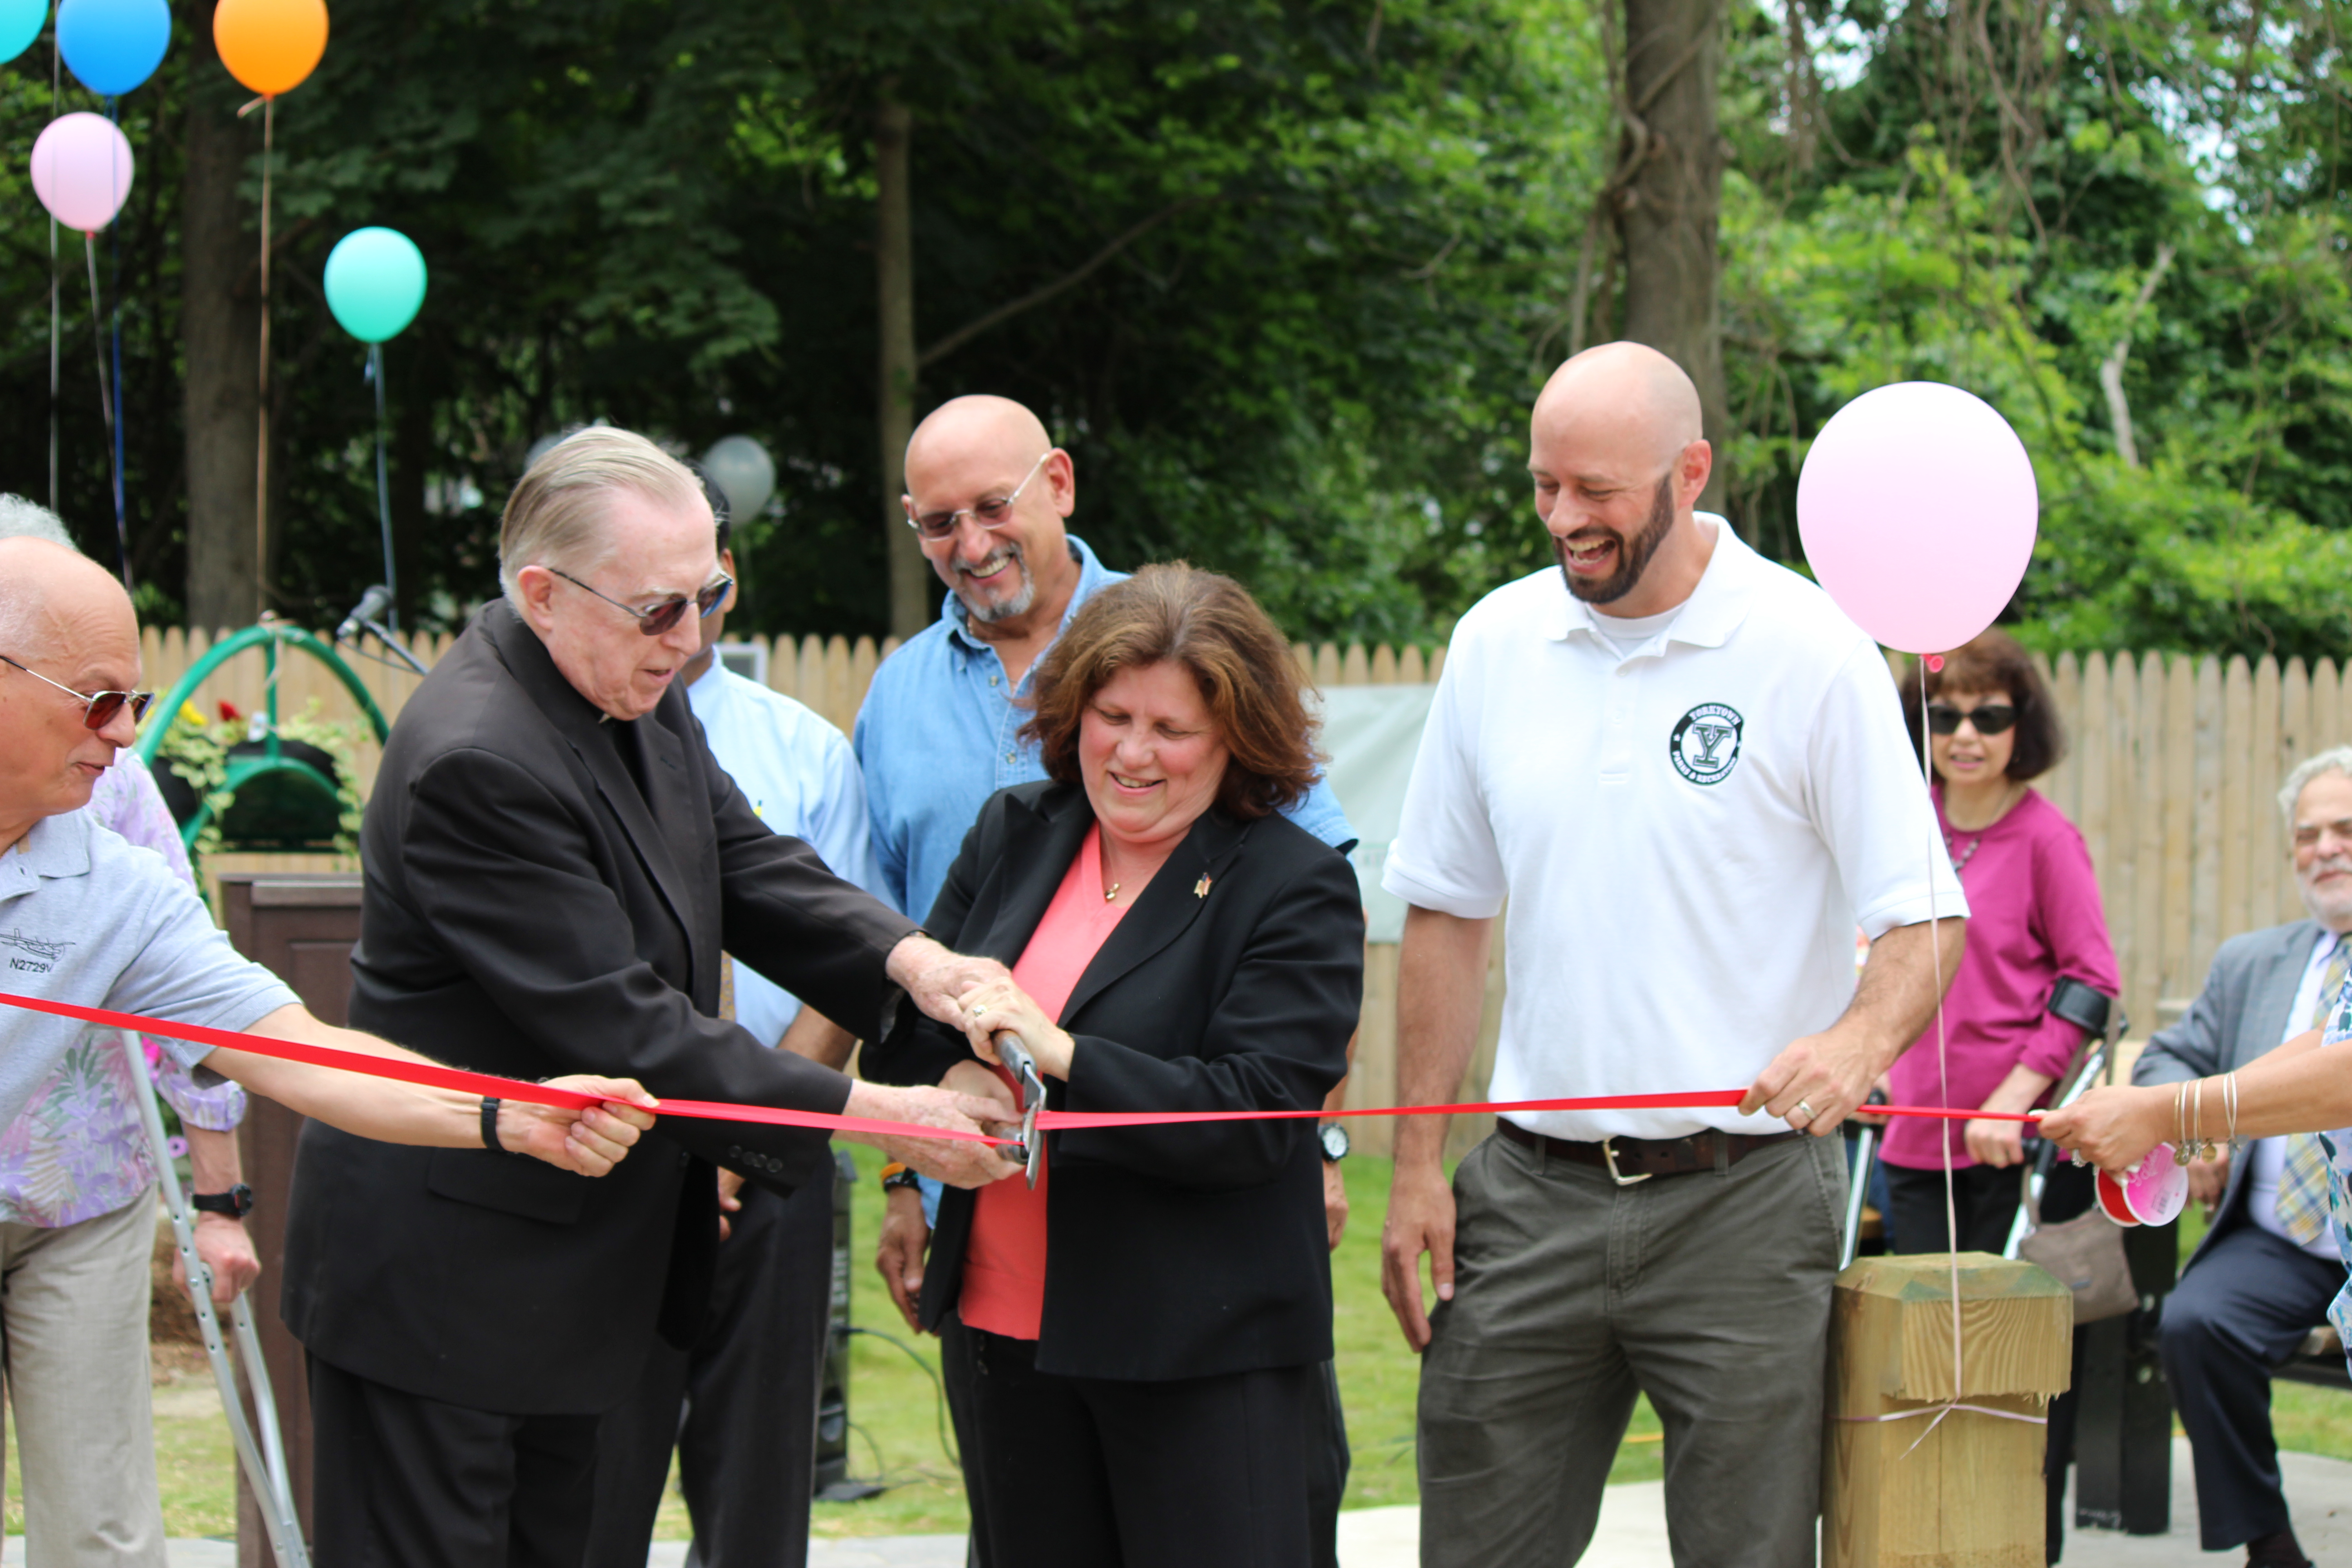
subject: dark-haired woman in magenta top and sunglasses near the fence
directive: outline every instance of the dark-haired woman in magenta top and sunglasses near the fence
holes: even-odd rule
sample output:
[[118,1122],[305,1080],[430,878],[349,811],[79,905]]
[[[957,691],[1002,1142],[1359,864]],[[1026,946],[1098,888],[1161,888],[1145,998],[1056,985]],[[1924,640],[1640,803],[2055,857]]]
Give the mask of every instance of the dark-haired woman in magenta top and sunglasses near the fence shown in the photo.
[[[1919,708],[1915,672],[1903,682],[1915,738]],[[1969,896],[1969,950],[1943,999],[1943,1067],[1929,1025],[1889,1072],[1889,1093],[1896,1105],[2032,1110],[2082,1046],[2082,1030],[2049,1011],[2058,978],[2119,990],[2091,853],[2027,783],[2058,762],[2065,736],[2025,649],[1997,630],[1926,677],[1926,731],[1936,816]],[[1959,1251],[1999,1253],[2018,1213],[2023,1126],[1924,1117],[1886,1128],[1893,1251],[1950,1248],[1938,1138],[1952,1150]]]

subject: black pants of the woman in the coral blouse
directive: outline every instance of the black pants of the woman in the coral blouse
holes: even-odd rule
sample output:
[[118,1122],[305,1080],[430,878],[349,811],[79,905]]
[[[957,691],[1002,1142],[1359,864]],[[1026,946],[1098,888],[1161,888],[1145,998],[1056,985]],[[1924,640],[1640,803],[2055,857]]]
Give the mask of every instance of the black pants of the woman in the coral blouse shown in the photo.
[[1171,1382],[1037,1371],[1033,1340],[962,1328],[988,1559],[1021,1568],[1308,1568],[1319,1366]]

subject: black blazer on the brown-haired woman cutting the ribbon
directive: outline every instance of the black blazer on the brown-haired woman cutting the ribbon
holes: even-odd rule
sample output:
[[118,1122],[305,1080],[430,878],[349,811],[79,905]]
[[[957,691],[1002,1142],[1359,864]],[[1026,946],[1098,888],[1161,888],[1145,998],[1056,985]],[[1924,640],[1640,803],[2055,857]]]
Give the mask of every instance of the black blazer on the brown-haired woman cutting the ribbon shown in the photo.
[[[1011,966],[1091,825],[1077,785],[1000,790],[924,929]],[[1348,860],[1279,816],[1209,811],[1070,992],[1061,1027],[1077,1058],[1068,1084],[1047,1079],[1047,1103],[1312,1110],[1348,1074],[1362,997],[1364,905]],[[962,1034],[906,1009],[863,1072],[936,1084],[962,1060]],[[1331,1359],[1312,1119],[1049,1133],[1047,1161],[1040,1371],[1169,1380]],[[941,1199],[924,1328],[962,1288],[974,1201]]]

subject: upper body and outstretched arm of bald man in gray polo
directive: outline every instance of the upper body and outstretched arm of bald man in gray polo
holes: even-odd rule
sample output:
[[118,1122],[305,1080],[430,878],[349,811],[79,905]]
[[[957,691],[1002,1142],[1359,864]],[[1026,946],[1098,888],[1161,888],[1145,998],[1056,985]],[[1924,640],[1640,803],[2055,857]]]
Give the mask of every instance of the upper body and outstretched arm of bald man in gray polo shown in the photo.
[[[428,1060],[313,1018],[278,976],[240,957],[160,856],[96,827],[82,806],[151,693],[139,684],[129,595],[73,550],[0,541],[0,990],[238,1030],[365,1056]],[[71,1051],[85,1025],[0,1004],[0,1119]],[[482,1147],[482,1100],[249,1051],[174,1041],[172,1053],[362,1138]],[[602,1175],[654,1124],[628,1079],[567,1088],[616,1105],[583,1112],[506,1100],[499,1143]],[[630,1105],[619,1105],[619,1103]]]

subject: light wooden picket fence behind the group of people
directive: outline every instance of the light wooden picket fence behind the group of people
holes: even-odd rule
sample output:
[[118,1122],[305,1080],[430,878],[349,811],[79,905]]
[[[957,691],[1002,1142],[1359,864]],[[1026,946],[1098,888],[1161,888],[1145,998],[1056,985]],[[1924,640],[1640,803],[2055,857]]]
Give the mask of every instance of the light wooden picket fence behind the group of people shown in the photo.
[[[146,682],[172,686],[212,646],[205,632],[143,632]],[[449,637],[416,637],[412,651],[430,665]],[[856,719],[866,686],[896,639],[776,637],[767,649],[767,684],[800,698],[842,731]],[[369,644],[372,649],[372,644]],[[374,651],[374,649],[372,649]],[[1444,654],[1421,649],[1296,644],[1303,670],[1324,686],[1421,684],[1437,679]],[[386,717],[397,717],[416,677],[374,661],[353,661]],[[1900,668],[1900,661],[1891,661]],[[2070,752],[2042,792],[2072,818],[2091,846],[2124,973],[2133,1032],[2171,1020],[2204,983],[2213,950],[2239,931],[2303,914],[2277,790],[2317,750],[2352,743],[2352,679],[2333,661],[2281,668],[2272,658],[2192,658],[2178,654],[2063,654],[2044,665]],[[263,696],[259,651],[223,665],[195,693],[205,717],[230,703],[240,715]],[[280,668],[280,710],[322,719],[358,719],[348,693],[308,658]],[[379,750],[358,750],[360,783],[374,783]],[[216,870],[247,858],[221,856]],[[332,858],[268,856],[254,867],[332,870]],[[1501,978],[1489,985],[1489,1013]],[[1364,1048],[1371,1077],[1388,1077],[1395,1034],[1395,954],[1374,952],[1367,971]],[[1491,1041],[1494,1018],[1486,1037]],[[1489,1044],[1491,1051],[1491,1044]],[[1362,1084],[1364,1103],[1390,1103],[1383,1084]],[[1378,1124],[1374,1124],[1378,1126]],[[1371,1128],[1367,1128],[1371,1131]],[[1385,1143],[1374,1133],[1376,1143]]]

